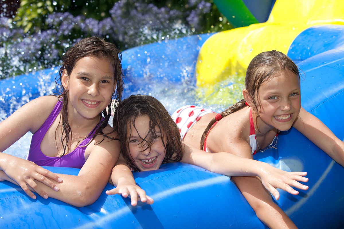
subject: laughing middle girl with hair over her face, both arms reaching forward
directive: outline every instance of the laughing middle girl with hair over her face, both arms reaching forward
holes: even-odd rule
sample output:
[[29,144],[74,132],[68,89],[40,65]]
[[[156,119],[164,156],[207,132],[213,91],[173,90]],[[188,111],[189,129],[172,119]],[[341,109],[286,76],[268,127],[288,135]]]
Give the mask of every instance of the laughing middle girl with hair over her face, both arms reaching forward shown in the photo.
[[241,158],[226,152],[208,153],[184,145],[172,117],[152,96],[131,95],[122,101],[116,115],[114,126],[117,126],[118,136],[122,142],[123,158],[120,157],[111,175],[116,188],[106,193],[122,194],[123,197],[130,194],[132,205],[136,205],[138,196],[141,201],[142,198],[144,201],[147,200],[147,203],[153,203],[153,200],[136,185],[131,170],[157,170],[162,163],[177,161],[228,176],[258,176],[276,199],[279,198],[276,188],[294,195],[299,192],[291,186],[302,190],[308,188],[298,182],[308,181],[303,177],[307,174],[305,172],[286,172],[265,162]]

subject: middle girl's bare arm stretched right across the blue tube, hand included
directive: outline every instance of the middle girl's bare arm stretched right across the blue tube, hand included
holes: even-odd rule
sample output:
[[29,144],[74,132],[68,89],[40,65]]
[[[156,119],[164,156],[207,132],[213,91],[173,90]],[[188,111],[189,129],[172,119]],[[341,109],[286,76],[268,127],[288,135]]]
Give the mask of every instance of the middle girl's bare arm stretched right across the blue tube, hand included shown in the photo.
[[306,172],[286,172],[268,163],[239,157],[232,153],[208,153],[186,145],[182,162],[195,164],[227,176],[258,176],[275,199],[279,199],[279,192],[276,188],[281,188],[293,195],[297,195],[299,192],[291,186],[302,190],[308,189],[307,185],[298,182],[308,181],[308,178],[304,177],[307,175]]

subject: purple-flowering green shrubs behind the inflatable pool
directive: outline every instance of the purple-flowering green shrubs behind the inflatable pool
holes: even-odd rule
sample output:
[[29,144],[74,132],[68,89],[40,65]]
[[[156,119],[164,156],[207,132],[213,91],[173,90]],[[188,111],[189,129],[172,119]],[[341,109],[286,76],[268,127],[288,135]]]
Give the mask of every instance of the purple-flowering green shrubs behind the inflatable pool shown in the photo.
[[212,0],[3,0],[0,78],[59,66],[63,53],[87,36],[125,50],[231,28]]

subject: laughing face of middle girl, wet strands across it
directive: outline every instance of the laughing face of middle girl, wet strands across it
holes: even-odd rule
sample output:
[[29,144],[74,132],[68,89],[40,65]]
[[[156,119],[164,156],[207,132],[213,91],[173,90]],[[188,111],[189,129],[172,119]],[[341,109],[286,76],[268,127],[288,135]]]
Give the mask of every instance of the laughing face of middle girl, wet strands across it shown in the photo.
[[[133,164],[140,171],[157,170],[162,164],[166,149],[163,142],[163,133],[155,126],[155,135],[151,136],[150,119],[148,115],[138,116],[134,122],[135,126],[129,122],[127,140],[129,142],[129,153],[133,159]],[[149,146],[148,142],[152,142]]]

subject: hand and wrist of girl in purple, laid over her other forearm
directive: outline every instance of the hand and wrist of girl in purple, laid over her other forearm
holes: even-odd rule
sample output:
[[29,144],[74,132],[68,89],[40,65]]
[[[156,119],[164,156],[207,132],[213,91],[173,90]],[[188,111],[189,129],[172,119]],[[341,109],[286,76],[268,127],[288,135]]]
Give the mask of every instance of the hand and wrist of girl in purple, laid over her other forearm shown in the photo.
[[7,156],[2,158],[1,162],[7,162],[2,163],[1,166],[3,172],[6,174],[6,176],[1,176],[2,180],[18,184],[22,190],[33,199],[36,199],[36,196],[32,191],[45,199],[48,198],[48,195],[37,186],[36,181],[45,184],[52,190],[59,190],[58,186],[49,179],[60,183],[62,179],[55,173],[43,169],[32,161],[7,154]]

